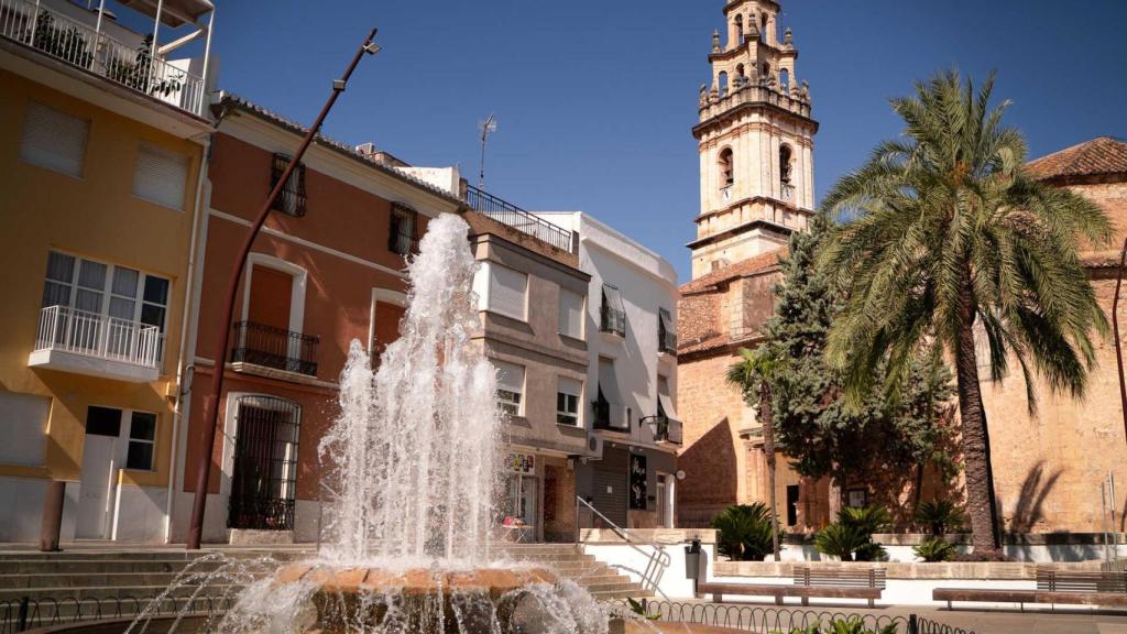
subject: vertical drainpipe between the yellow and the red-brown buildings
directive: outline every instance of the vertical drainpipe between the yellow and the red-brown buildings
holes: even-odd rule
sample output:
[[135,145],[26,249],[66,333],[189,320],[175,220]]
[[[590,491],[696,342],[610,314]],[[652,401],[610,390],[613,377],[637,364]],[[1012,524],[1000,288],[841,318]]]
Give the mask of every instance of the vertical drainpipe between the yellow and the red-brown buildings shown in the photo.
[[[172,408],[172,442],[169,449],[168,467],[168,500],[165,504],[165,543],[172,543],[172,508],[176,501],[176,468],[177,457],[180,450],[180,420],[190,410],[192,388],[184,385],[186,377],[195,376],[195,337],[188,341],[188,329],[192,327],[192,315],[195,312],[193,306],[193,291],[195,290],[196,250],[204,248],[207,237],[203,236],[203,244],[197,246],[199,236],[199,220],[206,213],[208,201],[204,201],[204,182],[207,179],[207,168],[211,167],[212,137],[219,130],[219,124],[223,121],[223,114],[216,118],[211,133],[204,141],[202,160],[199,161],[199,177],[196,179],[196,206],[192,214],[192,241],[188,250],[188,270],[184,284],[184,318],[180,320],[180,355],[176,363],[176,406]],[[193,328],[194,329],[194,328]],[[192,343],[193,345],[188,345]],[[188,350],[192,347],[192,350]],[[190,373],[189,373],[189,370]]]

